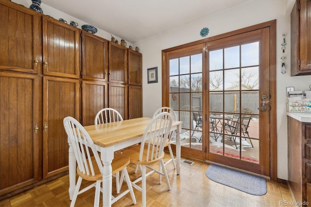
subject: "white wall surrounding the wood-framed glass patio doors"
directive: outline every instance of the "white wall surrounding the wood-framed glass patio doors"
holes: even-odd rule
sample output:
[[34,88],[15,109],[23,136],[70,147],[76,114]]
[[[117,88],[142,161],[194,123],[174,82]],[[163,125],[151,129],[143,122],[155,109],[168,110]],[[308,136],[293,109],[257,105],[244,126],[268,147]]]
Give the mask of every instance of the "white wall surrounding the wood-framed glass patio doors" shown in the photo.
[[[288,6],[291,8],[288,8]],[[276,19],[276,87],[277,87],[277,177],[287,180],[287,127],[286,127],[286,86],[295,90],[309,90],[311,76],[290,76],[290,14],[292,0],[253,0],[232,9],[192,22],[186,26],[172,29],[137,43],[142,52],[143,66],[143,116],[151,117],[161,107],[161,51],[174,46],[203,39],[200,31],[209,28],[207,37],[220,35],[251,25]],[[287,33],[286,66],[288,72],[280,73],[282,33]],[[147,84],[147,69],[158,67],[158,83]]]

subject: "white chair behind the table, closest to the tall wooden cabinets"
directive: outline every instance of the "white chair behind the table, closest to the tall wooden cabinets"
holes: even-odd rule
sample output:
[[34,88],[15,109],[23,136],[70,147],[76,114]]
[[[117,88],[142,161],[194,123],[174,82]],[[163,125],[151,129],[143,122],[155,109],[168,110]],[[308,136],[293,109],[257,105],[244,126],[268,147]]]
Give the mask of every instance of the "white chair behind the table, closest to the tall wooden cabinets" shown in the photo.
[[[102,123],[110,123],[115,121],[123,121],[123,118],[119,111],[117,111],[114,108],[103,108],[99,112],[97,112],[95,116],[94,123],[96,124],[102,124]],[[115,153],[116,155],[117,153]],[[117,172],[115,174],[116,177],[116,187],[117,187],[117,193],[120,193],[121,185],[120,185],[120,174]]]

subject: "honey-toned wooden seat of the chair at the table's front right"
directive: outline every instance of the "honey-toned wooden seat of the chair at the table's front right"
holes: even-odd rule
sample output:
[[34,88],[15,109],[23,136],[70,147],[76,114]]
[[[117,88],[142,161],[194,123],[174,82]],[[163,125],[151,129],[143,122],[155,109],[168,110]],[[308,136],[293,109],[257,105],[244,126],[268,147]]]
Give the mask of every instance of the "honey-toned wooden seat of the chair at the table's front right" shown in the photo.
[[147,156],[147,150],[146,149],[147,148],[148,148],[148,144],[146,143],[145,148],[144,148],[145,150],[144,150],[141,161],[139,161],[140,144],[133,146],[131,148],[128,148],[126,150],[123,150],[123,155],[130,157],[131,162],[134,164],[137,164],[137,165],[150,165],[150,164],[154,164],[154,163],[159,162],[160,159],[163,159],[164,152],[157,159],[146,162],[146,156]]

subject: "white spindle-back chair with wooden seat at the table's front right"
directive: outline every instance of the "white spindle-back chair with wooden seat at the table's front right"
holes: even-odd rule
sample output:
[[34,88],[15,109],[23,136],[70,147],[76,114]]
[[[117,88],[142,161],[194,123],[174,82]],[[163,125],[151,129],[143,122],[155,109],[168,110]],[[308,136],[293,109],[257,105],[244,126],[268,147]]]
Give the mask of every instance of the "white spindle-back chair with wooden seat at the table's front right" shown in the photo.
[[[131,148],[123,151],[124,155],[130,157],[132,163],[141,166],[141,176],[132,181],[132,186],[142,192],[142,206],[146,206],[146,177],[152,173],[158,173],[164,175],[168,189],[171,190],[169,178],[165,169],[163,157],[164,157],[164,145],[170,136],[172,128],[173,117],[168,112],[162,112],[156,115],[152,121],[148,124],[144,131],[144,135],[141,138],[141,144],[135,145]],[[150,165],[159,163],[163,172],[156,170]],[[146,173],[146,168],[150,169]],[[123,173],[121,175],[121,181],[123,180]],[[141,187],[136,183],[141,182]]]

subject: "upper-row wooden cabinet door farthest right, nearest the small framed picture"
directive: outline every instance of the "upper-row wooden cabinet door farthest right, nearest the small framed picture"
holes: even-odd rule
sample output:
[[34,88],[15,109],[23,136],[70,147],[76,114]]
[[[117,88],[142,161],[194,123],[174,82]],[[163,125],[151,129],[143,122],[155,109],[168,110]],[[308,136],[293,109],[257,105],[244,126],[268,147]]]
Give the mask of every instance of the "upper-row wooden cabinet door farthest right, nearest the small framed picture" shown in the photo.
[[142,55],[128,50],[128,84],[142,86]]

